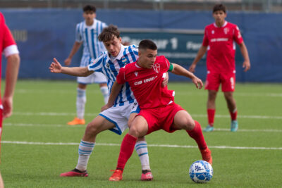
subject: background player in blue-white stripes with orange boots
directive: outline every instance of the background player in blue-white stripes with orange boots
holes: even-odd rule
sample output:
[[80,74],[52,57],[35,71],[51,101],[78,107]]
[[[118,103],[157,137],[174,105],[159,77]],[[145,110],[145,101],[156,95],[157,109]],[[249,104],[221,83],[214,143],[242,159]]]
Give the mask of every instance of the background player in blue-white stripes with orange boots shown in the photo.
[[[66,58],[65,65],[71,64],[71,59],[83,44],[83,54],[80,61],[80,67],[86,67],[91,61],[97,58],[102,51],[105,51],[102,42],[99,42],[98,36],[106,27],[106,23],[96,19],[96,8],[92,5],[83,7],[83,17],[85,21],[78,23],[75,30],[75,44],[71,54]],[[85,103],[86,103],[86,87],[87,84],[97,83],[104,96],[104,103],[109,99],[108,87],[106,85],[106,77],[99,72],[93,73],[87,77],[78,77],[78,88],[76,97],[76,113],[77,116],[68,125],[84,125]]]

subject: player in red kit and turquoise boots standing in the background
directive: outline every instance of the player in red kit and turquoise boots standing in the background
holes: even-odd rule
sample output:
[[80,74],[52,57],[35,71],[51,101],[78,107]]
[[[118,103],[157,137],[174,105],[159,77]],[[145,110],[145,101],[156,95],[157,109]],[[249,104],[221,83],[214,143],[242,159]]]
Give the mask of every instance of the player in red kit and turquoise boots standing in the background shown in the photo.
[[223,4],[216,4],[213,9],[213,16],[215,23],[205,27],[202,46],[189,70],[192,73],[195,72],[198,61],[207,51],[205,89],[209,90],[207,101],[209,125],[204,131],[211,132],[214,130],[216,94],[221,84],[221,91],[231,114],[231,131],[235,132],[238,130],[237,107],[233,98],[233,92],[235,91],[235,42],[239,45],[243,55],[245,72],[250,69],[250,59],[238,26],[225,20],[226,7]]

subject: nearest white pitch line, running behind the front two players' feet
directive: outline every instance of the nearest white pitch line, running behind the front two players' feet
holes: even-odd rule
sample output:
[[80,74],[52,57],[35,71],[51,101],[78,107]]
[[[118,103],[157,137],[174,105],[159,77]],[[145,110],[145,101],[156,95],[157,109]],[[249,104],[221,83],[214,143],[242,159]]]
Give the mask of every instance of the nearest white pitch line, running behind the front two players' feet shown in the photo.
[[[75,145],[78,146],[79,143],[72,142],[20,142],[20,141],[2,141],[2,144],[25,144],[25,145],[61,145],[69,146]],[[97,143],[97,146],[121,146],[121,144],[106,144],[106,143]],[[149,147],[166,147],[166,148],[197,148],[197,146],[180,146],[180,145],[166,145],[166,144],[148,144]],[[258,149],[258,150],[282,150],[282,147],[240,147],[240,146],[209,146],[210,149]]]

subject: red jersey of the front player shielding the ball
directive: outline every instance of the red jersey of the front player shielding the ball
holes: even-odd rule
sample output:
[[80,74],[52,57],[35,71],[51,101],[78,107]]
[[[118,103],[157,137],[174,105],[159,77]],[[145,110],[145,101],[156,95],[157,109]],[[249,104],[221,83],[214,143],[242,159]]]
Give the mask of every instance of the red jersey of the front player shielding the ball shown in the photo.
[[174,100],[174,92],[161,86],[169,65],[164,56],[157,56],[152,69],[129,63],[119,70],[116,81],[128,82],[141,109],[166,106]]

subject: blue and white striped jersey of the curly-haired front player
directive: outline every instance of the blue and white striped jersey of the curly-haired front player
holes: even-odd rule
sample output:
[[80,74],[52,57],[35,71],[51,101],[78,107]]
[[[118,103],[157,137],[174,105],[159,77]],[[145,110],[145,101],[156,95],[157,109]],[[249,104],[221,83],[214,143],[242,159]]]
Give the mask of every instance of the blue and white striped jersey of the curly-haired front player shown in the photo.
[[[109,91],[111,91],[111,87],[116,81],[116,76],[118,75],[119,70],[124,65],[137,61],[137,58],[137,46],[123,46],[121,44],[121,51],[119,52],[118,56],[111,58],[108,54],[108,51],[104,51],[102,55],[88,65],[88,70],[94,70],[106,75],[108,80],[108,88]],[[114,106],[123,106],[124,104],[133,103],[134,99],[135,96],[133,95],[129,84],[126,82],[121,87],[121,92],[118,94]]]

